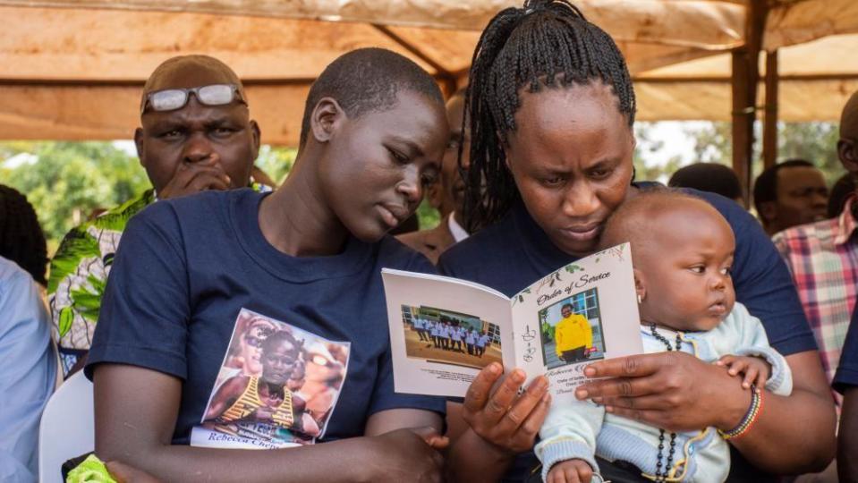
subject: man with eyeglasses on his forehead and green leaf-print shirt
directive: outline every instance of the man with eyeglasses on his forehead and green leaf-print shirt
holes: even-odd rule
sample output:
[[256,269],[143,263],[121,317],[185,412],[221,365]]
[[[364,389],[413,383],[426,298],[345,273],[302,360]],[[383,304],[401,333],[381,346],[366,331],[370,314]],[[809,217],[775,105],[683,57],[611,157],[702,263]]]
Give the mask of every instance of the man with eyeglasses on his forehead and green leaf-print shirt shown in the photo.
[[157,199],[200,191],[268,191],[251,179],[259,126],[242,81],[213,57],[173,57],[152,72],[134,143],[152,189],[73,228],[51,261],[47,292],[66,377],[89,351],[107,274],[132,216]]

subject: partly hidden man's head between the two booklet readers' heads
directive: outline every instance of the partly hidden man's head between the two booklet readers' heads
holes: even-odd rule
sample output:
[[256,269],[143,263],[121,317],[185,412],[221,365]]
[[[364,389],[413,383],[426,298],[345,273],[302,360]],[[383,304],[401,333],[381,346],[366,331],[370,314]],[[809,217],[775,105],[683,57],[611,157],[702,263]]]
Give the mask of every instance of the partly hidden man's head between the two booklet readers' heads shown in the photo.
[[[463,223],[464,179],[463,171],[471,165],[471,131],[465,130],[462,123],[464,118],[464,89],[458,90],[446,102],[446,120],[450,125],[449,140],[447,141],[444,158],[441,161],[441,173],[437,182],[432,183],[426,190],[426,198],[432,208],[436,208],[441,217],[455,212],[457,222]],[[462,162],[459,162],[459,153]],[[460,166],[463,171],[460,171]]]

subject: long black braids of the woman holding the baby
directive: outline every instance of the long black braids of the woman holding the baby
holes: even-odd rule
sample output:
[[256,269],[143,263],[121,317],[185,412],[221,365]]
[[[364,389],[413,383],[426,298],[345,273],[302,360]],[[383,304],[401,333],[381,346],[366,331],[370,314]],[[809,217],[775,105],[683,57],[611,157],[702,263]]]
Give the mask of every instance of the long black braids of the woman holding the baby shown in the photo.
[[567,0],[526,0],[522,8],[497,13],[480,36],[470,78],[465,120],[471,125],[471,167],[465,174],[464,215],[471,233],[504,216],[520,196],[504,152],[521,106],[519,89],[604,82],[629,126],[634,123],[634,90],[623,55]]

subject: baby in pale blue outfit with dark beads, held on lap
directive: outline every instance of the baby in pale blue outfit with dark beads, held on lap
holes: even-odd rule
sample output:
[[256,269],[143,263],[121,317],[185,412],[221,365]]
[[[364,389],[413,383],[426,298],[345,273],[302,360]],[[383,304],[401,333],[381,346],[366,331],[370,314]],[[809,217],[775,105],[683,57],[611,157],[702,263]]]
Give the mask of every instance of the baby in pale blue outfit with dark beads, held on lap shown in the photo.
[[[718,210],[681,191],[641,192],[616,210],[602,234],[603,247],[622,242],[632,244],[644,352],[688,352],[743,375],[748,390],[790,394],[786,360],[769,346],[760,320],[735,302],[735,240]],[[654,481],[724,481],[725,437],[736,434],[669,433],[582,401],[551,407],[535,451],[551,483],[586,483],[590,469],[599,471],[596,455]]]

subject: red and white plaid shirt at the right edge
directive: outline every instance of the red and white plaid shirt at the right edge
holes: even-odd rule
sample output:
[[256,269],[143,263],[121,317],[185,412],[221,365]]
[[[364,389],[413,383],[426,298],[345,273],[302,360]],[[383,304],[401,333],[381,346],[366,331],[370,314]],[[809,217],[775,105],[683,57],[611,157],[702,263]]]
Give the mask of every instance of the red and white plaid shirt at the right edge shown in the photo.
[[828,382],[837,371],[858,298],[854,202],[854,198],[849,199],[837,218],[794,226],[772,238],[793,274],[804,313],[820,347]]

